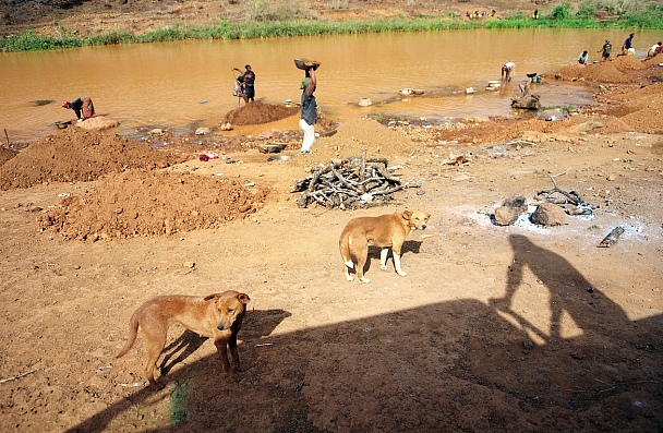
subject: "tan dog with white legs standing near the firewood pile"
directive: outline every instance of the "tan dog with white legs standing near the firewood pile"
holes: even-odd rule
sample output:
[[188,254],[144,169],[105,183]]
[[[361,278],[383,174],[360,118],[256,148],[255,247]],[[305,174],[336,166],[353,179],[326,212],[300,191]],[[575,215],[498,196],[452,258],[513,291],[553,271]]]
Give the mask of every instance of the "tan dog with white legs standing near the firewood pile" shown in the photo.
[[[364,277],[364,265],[369,256],[369,245],[382,248],[379,253],[379,268],[387,269],[387,254],[389,246],[394,253],[394,267],[401,277],[408,275],[400,267],[400,249],[406,237],[414,230],[424,230],[431,214],[421,211],[403,211],[377,217],[360,217],[351,219],[342,233],[338,245],[345,263],[345,273],[348,281],[354,278],[349,269],[354,268],[357,276],[363,282],[371,282]],[[354,265],[357,261],[357,266]]]

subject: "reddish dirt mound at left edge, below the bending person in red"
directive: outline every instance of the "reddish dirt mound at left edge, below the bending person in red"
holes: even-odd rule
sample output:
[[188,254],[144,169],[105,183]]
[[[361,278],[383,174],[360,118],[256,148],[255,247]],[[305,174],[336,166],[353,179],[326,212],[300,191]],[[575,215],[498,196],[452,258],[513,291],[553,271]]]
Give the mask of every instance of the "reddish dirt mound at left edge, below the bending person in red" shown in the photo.
[[31,144],[0,166],[0,190],[46,182],[81,182],[130,168],[165,168],[185,160],[119,135],[68,128]]

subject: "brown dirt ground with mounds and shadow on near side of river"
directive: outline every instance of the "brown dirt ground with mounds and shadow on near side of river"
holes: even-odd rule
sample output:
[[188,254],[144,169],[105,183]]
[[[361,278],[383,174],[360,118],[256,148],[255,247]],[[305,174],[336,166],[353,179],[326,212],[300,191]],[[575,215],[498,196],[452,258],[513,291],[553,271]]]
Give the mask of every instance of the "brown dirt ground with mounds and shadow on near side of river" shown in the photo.
[[[563,121],[324,119],[304,156],[293,156],[298,131],[132,142],[72,127],[3,148],[0,430],[663,431],[663,84],[652,64],[549,74],[596,83],[603,103]],[[270,141],[292,158],[268,161],[256,146]],[[364,151],[421,188],[357,211],[296,205],[293,181]],[[533,208],[555,184],[593,217],[493,224],[504,200]],[[372,249],[372,282],[348,282],[345,224],[406,208],[432,214],[406,242],[408,276],[391,262],[381,272]],[[599,248],[615,227],[622,238]],[[251,297],[238,382],[212,342],[178,326],[164,389],[145,387],[142,336],[114,358],[149,297],[228,289]]]

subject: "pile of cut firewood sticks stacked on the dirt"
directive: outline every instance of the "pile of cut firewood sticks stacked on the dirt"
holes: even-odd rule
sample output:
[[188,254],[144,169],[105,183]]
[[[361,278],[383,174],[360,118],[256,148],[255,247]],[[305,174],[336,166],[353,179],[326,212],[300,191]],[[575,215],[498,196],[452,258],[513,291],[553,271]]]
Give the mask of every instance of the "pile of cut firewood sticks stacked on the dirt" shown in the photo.
[[384,158],[369,158],[365,154],[334,160],[311,170],[312,175],[296,182],[291,192],[301,192],[299,207],[317,204],[341,209],[386,204],[393,193],[407,188],[420,188],[419,181],[401,182],[391,175],[398,167],[389,167]]

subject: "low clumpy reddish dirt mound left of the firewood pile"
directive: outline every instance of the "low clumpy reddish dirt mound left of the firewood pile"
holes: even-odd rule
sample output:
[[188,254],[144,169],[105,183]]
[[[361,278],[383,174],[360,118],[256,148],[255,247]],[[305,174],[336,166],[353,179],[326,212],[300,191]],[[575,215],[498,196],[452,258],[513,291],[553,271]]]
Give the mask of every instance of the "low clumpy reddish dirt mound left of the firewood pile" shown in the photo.
[[65,239],[135,238],[215,228],[262,207],[266,190],[189,172],[129,170],[38,218],[41,231]]

